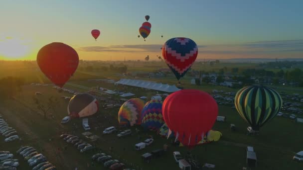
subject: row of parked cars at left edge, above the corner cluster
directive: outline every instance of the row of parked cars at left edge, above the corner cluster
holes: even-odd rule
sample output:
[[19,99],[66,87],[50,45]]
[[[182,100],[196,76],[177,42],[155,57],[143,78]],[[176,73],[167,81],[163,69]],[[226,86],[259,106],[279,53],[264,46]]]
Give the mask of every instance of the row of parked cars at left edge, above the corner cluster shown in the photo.
[[7,122],[2,119],[2,115],[0,115],[0,134],[5,137],[5,142],[11,142],[19,139],[17,131],[14,128],[8,126]]

